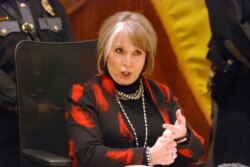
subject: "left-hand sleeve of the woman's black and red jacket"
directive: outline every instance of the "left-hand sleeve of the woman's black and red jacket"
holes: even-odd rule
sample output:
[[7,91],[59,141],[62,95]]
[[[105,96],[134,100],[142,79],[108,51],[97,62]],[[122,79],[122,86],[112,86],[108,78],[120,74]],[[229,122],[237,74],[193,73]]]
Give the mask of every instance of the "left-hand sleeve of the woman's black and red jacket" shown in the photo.
[[94,97],[86,89],[80,85],[73,86],[68,106],[69,134],[78,162],[88,167],[146,163],[144,148],[110,148],[104,145],[102,127],[105,125],[99,121]]

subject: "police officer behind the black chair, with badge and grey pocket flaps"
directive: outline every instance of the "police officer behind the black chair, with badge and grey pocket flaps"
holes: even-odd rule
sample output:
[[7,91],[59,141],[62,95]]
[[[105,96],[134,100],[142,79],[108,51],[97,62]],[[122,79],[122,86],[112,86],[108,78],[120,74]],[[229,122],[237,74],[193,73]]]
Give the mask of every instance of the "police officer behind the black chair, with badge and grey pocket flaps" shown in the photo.
[[0,0],[0,167],[19,166],[14,49],[26,39],[74,41],[57,0]]

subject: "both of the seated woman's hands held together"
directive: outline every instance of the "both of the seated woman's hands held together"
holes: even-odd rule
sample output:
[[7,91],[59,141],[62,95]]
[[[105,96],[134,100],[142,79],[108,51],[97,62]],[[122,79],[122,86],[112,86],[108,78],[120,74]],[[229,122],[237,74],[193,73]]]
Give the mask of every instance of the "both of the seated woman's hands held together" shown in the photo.
[[176,111],[174,125],[163,124],[165,129],[153,147],[150,148],[152,165],[170,165],[177,157],[177,140],[187,136],[186,119],[181,110]]

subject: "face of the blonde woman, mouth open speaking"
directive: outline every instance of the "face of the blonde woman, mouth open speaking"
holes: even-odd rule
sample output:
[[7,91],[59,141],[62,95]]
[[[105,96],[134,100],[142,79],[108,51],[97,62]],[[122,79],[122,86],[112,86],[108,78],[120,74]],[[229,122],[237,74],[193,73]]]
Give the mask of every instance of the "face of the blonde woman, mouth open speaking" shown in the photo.
[[129,85],[136,81],[142,72],[146,53],[132,41],[118,35],[107,55],[107,68],[113,80],[120,85]]

